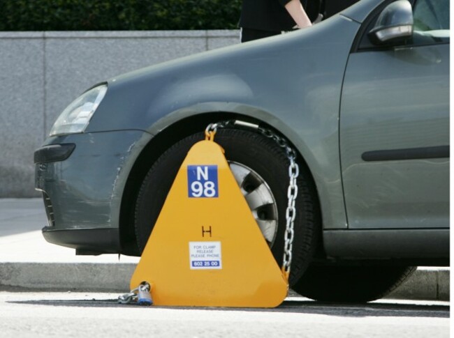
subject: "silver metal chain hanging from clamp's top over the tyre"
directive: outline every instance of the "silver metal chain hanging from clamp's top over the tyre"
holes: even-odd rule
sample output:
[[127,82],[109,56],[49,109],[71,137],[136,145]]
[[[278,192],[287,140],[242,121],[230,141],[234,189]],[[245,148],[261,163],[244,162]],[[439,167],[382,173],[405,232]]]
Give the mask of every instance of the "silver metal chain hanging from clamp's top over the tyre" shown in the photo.
[[296,162],[296,151],[293,149],[284,137],[280,137],[272,130],[262,128],[258,125],[247,123],[243,121],[222,121],[219,123],[210,123],[205,130],[205,136],[210,139],[214,138],[219,128],[226,128],[227,126],[234,125],[240,128],[251,128],[260,132],[263,136],[273,139],[278,146],[284,148],[288,158],[288,178],[290,178],[287,189],[288,204],[286,208],[286,231],[284,233],[284,258],[282,261],[282,271],[286,274],[286,277],[290,276],[291,262],[292,262],[292,249],[293,249],[293,238],[295,236],[294,224],[296,217],[295,201],[298,197],[298,185],[296,179],[300,174],[300,167]]

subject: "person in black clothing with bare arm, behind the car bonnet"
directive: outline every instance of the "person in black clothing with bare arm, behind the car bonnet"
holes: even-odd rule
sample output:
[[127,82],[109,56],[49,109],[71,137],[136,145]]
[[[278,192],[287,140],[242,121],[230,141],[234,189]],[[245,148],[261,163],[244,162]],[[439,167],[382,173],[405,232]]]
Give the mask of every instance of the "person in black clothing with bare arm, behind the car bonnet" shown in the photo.
[[243,0],[240,17],[241,42],[312,26],[303,7],[306,1]]

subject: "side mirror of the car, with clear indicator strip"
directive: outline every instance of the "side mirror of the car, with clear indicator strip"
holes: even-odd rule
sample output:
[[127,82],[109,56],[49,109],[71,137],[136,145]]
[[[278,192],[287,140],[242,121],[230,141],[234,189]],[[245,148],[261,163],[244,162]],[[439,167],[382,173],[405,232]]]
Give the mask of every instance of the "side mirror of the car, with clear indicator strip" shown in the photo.
[[408,0],[397,0],[386,6],[369,37],[376,45],[402,43],[413,35],[413,11]]

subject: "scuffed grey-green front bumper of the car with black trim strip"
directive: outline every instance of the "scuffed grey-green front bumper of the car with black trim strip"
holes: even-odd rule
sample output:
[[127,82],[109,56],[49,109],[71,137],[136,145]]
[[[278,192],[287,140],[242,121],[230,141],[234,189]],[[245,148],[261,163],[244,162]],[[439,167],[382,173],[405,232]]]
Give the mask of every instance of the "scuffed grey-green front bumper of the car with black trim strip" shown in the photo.
[[121,252],[124,186],[151,135],[140,130],[50,137],[35,152],[35,187],[43,192],[45,239],[80,252]]

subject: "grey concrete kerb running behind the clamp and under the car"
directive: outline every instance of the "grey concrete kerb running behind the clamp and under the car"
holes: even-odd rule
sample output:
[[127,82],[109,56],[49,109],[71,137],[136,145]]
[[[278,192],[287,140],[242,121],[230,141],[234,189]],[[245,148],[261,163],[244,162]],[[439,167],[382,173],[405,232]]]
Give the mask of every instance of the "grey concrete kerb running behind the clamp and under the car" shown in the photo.
[[[0,290],[129,291],[135,263],[0,263]],[[449,269],[418,268],[387,298],[449,300]]]

